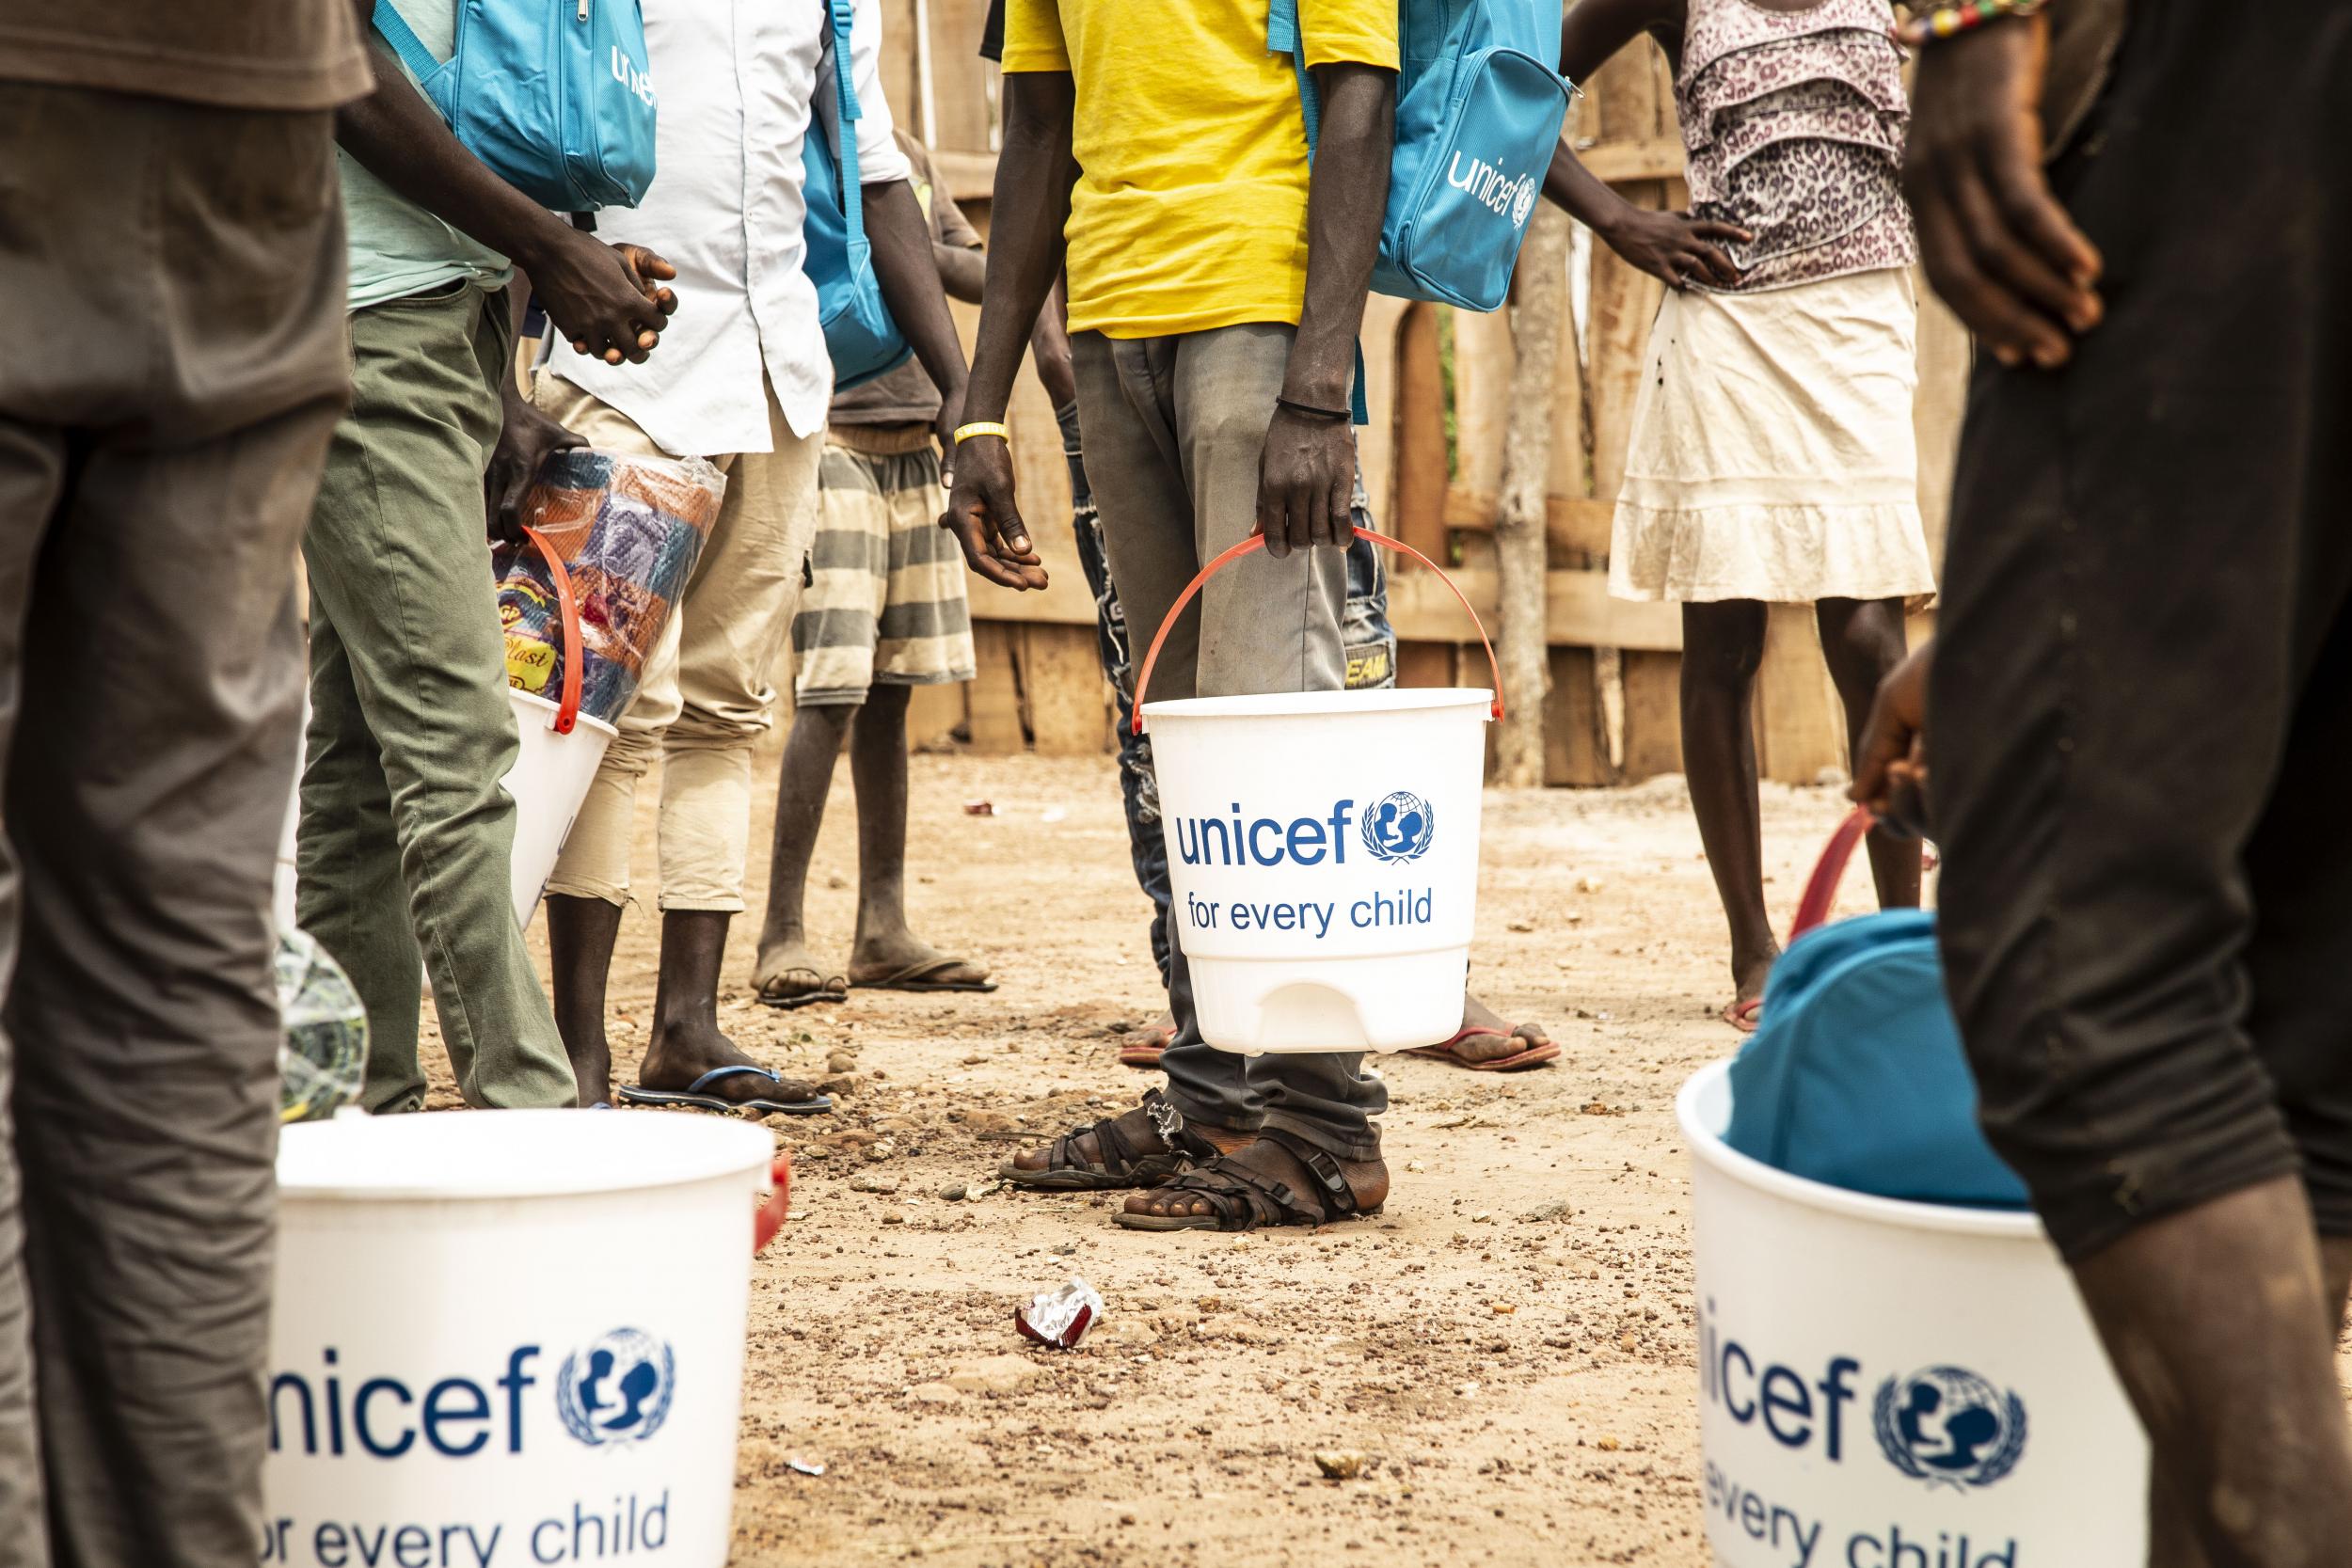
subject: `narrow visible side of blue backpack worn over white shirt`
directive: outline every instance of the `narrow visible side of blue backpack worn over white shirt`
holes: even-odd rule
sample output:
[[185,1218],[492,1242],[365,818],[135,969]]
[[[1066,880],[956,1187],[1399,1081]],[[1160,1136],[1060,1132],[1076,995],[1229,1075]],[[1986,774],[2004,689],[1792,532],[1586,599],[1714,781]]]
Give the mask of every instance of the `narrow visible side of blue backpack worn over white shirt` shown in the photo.
[[[866,240],[866,197],[858,186],[858,89],[849,71],[851,0],[826,0],[833,40],[833,113],[823,110],[823,89],[809,113],[809,136],[802,141],[802,195],[809,216],[802,226],[807,254],[800,270],[816,284],[816,320],[826,329],[826,353],[833,355],[833,390],[898,369],[913,348],[889,306],[873,268],[873,244]],[[823,71],[823,66],[818,66]],[[941,197],[946,200],[946,197]]]

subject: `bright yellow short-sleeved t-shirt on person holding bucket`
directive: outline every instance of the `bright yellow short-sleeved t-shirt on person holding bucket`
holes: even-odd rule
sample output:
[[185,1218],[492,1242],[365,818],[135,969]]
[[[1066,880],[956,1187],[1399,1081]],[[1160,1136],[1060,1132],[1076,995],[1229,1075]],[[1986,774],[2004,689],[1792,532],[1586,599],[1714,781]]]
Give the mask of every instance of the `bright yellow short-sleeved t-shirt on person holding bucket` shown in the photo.
[[[1301,0],[1308,66],[1397,68],[1397,0]],[[1308,141],[1265,0],[1009,0],[1004,71],[1077,85],[1070,329],[1298,322]]]

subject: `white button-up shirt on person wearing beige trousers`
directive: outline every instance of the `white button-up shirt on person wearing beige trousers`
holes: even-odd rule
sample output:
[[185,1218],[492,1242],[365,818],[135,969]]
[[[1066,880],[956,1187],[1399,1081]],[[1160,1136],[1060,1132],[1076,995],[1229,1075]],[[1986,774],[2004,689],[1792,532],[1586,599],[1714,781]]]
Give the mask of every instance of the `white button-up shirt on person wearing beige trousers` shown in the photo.
[[[677,266],[677,315],[644,364],[604,364],[557,334],[546,371],[593,393],[675,456],[769,451],[760,371],[795,435],[826,425],[833,360],[816,284],[800,270],[802,141],[826,35],[823,0],[644,0],[661,94],[644,205],[597,214]],[[908,179],[891,141],[877,0],[854,0],[858,179]],[[826,61],[830,75],[830,61]]]

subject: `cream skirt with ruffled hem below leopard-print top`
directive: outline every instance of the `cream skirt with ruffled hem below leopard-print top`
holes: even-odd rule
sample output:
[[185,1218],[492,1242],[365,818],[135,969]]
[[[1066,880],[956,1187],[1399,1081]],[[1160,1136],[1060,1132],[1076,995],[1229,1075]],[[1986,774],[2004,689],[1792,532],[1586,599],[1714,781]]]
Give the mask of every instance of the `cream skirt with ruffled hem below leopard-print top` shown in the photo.
[[1658,308],[1609,545],[1623,599],[1936,590],[1912,440],[1907,270]]

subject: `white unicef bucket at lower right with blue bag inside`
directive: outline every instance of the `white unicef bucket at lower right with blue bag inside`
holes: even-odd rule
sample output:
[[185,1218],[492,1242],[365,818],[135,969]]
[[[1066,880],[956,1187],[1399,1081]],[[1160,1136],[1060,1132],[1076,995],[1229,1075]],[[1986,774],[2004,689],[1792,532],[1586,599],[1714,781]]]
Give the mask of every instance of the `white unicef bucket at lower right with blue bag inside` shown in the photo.
[[1724,1568],[2140,1568],[2147,1439],[2030,1213],[1842,1192],[1691,1145],[1700,1507]]

